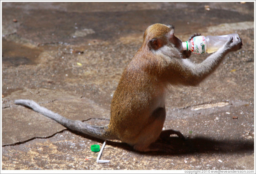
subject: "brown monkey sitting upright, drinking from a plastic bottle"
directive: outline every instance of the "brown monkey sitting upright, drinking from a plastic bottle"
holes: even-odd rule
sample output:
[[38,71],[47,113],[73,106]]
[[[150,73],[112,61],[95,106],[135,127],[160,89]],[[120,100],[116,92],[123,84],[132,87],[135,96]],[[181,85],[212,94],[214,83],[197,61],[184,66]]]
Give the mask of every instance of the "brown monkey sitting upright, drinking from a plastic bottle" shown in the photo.
[[[199,36],[192,35],[190,39]],[[163,131],[166,119],[165,96],[169,85],[197,86],[220,65],[231,51],[241,49],[242,39],[230,39],[201,63],[187,59],[191,51],[183,51],[182,41],[174,35],[174,26],[153,24],[143,34],[143,44],[125,67],[110,106],[110,121],[105,126],[70,120],[39,106],[31,100],[15,100],[55,120],[70,130],[102,140],[120,140],[139,152],[173,152],[169,144],[157,140],[178,135],[179,131]]]

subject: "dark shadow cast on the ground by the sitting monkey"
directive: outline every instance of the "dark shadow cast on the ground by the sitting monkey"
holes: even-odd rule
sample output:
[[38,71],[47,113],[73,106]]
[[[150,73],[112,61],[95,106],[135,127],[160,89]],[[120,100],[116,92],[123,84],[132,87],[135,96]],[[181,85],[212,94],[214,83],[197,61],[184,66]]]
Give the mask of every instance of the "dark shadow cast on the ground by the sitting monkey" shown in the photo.
[[[80,134],[79,134],[80,135]],[[101,139],[97,139],[87,135],[81,135],[85,138],[96,140],[98,142],[104,142]],[[160,141],[158,141],[160,142]],[[174,155],[174,154],[193,154],[193,153],[246,153],[254,151],[253,140],[214,140],[207,137],[193,137],[186,138],[185,140],[179,137],[169,137],[168,140],[161,141],[171,145],[172,149],[169,153],[160,152],[138,152],[135,151],[131,146],[123,142],[107,141],[108,145],[117,148],[123,148],[129,151],[137,152],[140,154],[151,154],[151,155]]]

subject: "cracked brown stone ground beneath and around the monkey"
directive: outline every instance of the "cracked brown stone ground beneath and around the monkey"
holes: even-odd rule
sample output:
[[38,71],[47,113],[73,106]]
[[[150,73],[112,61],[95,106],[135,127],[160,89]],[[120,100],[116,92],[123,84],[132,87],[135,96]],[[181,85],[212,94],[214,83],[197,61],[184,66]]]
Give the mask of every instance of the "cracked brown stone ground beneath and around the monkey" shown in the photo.
[[[254,3],[2,3],[2,169],[255,170]],[[197,87],[170,87],[164,129],[174,153],[138,153],[68,131],[15,99],[105,125],[125,66],[153,23],[193,33],[238,33],[242,49]],[[208,55],[191,55],[200,63]]]

